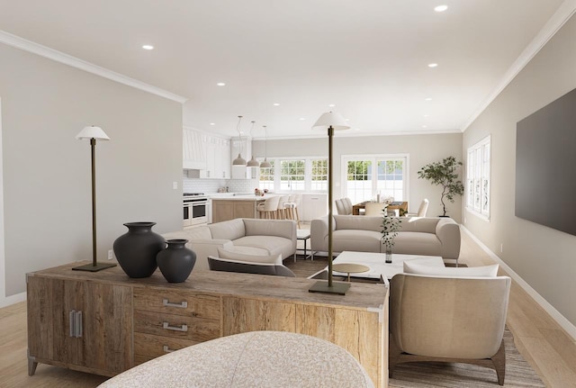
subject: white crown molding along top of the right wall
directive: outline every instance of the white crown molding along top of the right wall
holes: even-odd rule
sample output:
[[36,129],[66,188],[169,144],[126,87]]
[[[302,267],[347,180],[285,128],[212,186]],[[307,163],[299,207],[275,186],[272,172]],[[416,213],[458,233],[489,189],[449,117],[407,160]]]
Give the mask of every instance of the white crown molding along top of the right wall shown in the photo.
[[500,78],[500,82],[492,90],[491,94],[486,100],[476,109],[473,115],[468,119],[468,122],[463,127],[463,132],[468,129],[470,125],[484,112],[484,110],[502,93],[506,86],[518,76],[518,73],[527,66],[536,54],[545,47],[545,44],[552,39],[572,15],[576,13],[576,0],[564,0],[563,4],[558,7],[552,17],[545,23],[545,26],[538,32],[536,37],[527,45],[527,48],[522,51],[518,59],[514,61],[512,66],[508,69],[506,74]]

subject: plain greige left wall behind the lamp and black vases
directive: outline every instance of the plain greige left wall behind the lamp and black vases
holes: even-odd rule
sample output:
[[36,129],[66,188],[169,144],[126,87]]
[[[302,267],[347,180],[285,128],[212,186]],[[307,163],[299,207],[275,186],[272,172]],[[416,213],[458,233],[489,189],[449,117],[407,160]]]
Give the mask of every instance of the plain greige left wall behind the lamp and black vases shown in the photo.
[[92,258],[85,125],[111,138],[96,145],[98,260],[124,222],[182,228],[181,104],[4,44],[0,58],[4,295],[27,272]]

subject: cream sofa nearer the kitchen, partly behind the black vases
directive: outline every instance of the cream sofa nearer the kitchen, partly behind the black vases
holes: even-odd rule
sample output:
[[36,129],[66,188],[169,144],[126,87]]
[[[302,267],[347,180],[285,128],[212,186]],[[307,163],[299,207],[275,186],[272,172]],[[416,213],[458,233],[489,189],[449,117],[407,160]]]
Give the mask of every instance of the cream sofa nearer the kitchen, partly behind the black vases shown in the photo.
[[[296,252],[296,222],[237,218],[162,235],[165,239],[187,239],[196,254],[194,269],[209,270],[208,257],[219,257],[218,248],[254,256],[293,256]],[[281,264],[281,263],[280,263]]]

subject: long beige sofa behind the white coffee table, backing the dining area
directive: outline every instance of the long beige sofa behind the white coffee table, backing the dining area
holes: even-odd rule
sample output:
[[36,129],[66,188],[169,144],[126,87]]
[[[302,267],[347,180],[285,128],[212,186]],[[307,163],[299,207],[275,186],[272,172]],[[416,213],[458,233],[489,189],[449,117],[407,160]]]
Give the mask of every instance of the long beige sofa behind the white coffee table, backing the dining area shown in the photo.
[[[394,253],[455,260],[460,256],[460,226],[451,218],[402,217],[401,220]],[[380,216],[333,215],[332,250],[381,252],[382,221]],[[328,251],[328,215],[311,222],[311,250]]]

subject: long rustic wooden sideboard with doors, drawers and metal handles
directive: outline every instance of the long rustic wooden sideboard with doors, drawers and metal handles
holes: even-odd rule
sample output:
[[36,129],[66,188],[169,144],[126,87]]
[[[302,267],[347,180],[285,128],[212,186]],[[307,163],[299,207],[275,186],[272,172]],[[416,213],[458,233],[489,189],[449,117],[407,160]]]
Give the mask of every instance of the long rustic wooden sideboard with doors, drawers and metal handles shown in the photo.
[[345,296],[309,293],[314,280],[193,271],[169,284],[121,267],[27,275],[29,374],[38,363],[112,376],[213,338],[254,330],[308,334],[344,347],[377,387],[388,386],[388,289],[353,284]]

